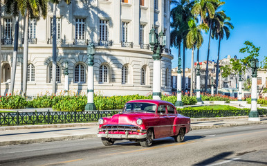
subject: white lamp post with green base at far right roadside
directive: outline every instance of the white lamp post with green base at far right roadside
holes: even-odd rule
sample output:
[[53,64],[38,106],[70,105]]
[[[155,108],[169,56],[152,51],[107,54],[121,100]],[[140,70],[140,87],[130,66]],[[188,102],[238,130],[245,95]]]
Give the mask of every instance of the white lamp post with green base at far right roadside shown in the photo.
[[252,84],[251,84],[251,110],[248,114],[248,120],[260,121],[257,111],[257,69],[259,68],[259,60],[251,59]]

